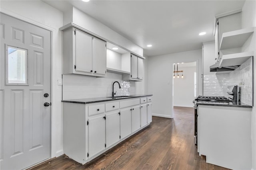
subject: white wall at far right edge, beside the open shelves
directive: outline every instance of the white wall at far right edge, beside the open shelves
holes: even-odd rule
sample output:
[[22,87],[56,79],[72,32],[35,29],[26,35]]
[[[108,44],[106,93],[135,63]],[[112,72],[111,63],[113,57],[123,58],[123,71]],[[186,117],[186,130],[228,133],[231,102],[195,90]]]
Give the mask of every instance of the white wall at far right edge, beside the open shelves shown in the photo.
[[[256,27],[256,1],[246,0],[242,8],[242,28]],[[253,50],[256,56],[256,33],[254,32],[250,47],[244,50]],[[256,170],[256,60],[254,57],[254,107],[252,108],[252,169]]]

